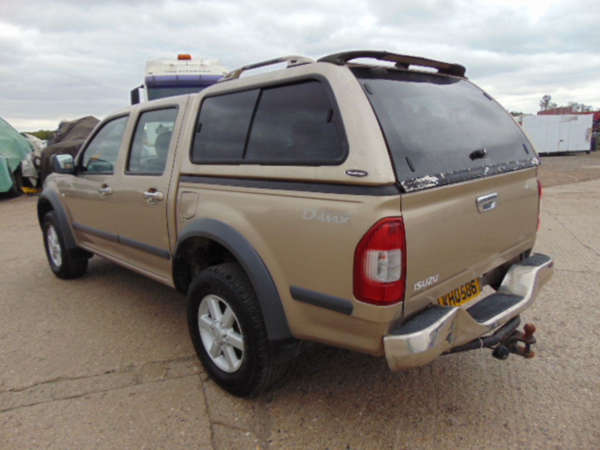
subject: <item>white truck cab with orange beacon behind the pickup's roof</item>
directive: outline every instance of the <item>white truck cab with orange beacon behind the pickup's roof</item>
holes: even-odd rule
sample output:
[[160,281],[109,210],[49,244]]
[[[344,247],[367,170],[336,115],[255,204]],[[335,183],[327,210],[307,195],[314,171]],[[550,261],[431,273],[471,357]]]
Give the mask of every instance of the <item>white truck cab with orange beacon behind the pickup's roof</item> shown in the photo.
[[194,94],[214,85],[227,72],[217,59],[192,59],[188,54],[179,54],[177,59],[150,59],[143,85],[131,90],[131,104],[140,103],[140,89],[145,101]]

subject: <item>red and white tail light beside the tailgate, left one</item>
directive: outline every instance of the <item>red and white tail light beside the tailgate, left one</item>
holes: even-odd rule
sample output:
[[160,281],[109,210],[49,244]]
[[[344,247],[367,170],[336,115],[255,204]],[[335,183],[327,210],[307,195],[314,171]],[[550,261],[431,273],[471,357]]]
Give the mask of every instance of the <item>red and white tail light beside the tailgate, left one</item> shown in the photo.
[[354,255],[354,296],[373,305],[404,300],[406,239],[401,217],[380,220],[362,237]]

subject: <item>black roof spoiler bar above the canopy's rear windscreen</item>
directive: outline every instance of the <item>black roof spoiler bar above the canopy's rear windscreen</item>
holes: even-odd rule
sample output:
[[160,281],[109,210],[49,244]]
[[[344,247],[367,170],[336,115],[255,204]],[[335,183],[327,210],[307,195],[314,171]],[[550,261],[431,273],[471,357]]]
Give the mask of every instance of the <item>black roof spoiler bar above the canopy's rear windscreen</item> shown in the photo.
[[333,55],[323,56],[317,61],[331,62],[332,64],[344,65],[348,61],[356,58],[374,58],[380,61],[391,61],[396,63],[396,67],[407,69],[411,65],[420,65],[423,67],[433,67],[438,73],[445,75],[454,75],[463,77],[466,68],[460,64],[450,62],[436,61],[435,59],[420,58],[419,56],[398,55],[397,53],[381,52],[377,50],[355,50],[352,52],[334,53]]

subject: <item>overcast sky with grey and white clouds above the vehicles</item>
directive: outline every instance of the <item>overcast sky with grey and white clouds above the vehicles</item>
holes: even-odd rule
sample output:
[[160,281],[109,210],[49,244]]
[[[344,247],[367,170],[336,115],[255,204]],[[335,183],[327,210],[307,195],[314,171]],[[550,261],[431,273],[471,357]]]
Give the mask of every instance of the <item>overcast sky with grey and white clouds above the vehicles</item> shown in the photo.
[[147,59],[233,69],[388,50],[460,62],[506,108],[600,107],[600,1],[0,0],[0,117],[20,131],[126,106]]

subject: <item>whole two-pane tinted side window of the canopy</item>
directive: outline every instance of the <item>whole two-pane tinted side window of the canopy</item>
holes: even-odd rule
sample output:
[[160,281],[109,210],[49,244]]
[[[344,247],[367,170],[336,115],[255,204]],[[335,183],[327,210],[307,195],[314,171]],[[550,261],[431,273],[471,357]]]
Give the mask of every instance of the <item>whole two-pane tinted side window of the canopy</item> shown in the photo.
[[202,102],[195,163],[321,165],[345,156],[343,128],[316,81],[208,97]]

